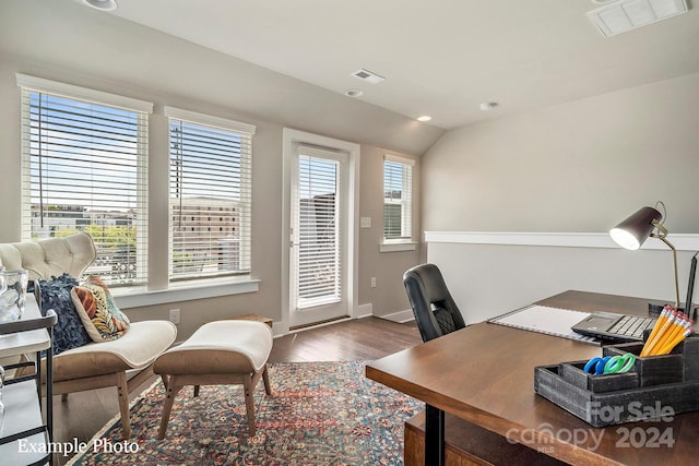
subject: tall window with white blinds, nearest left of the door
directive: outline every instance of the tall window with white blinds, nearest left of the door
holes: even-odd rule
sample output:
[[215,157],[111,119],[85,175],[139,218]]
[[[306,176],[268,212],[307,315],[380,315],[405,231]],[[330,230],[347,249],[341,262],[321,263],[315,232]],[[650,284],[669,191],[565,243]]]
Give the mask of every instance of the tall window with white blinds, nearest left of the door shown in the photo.
[[251,124],[165,108],[170,280],[250,273]]

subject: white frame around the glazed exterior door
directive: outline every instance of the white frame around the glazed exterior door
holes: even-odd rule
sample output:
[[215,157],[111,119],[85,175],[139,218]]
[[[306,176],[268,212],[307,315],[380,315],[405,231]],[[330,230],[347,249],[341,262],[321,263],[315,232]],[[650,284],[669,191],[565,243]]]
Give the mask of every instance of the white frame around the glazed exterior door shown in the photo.
[[347,315],[354,319],[357,315],[358,303],[358,250],[359,235],[359,144],[333,138],[321,136],[313,133],[284,128],[283,134],[283,170],[282,170],[282,322],[280,331],[282,334],[289,332],[291,290],[289,290],[289,231],[292,216],[292,175],[296,157],[295,147],[299,144],[316,145],[329,150],[347,153],[347,224],[344,234],[345,242],[342,256],[346,258],[343,263],[342,273],[346,277],[344,292],[347,300]]

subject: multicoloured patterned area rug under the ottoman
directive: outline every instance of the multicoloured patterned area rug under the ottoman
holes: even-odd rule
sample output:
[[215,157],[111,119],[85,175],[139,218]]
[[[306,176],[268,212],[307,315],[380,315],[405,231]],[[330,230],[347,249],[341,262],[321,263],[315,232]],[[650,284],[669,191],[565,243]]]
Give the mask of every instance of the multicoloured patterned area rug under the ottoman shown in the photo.
[[272,396],[254,393],[257,435],[240,385],[183,387],[157,440],[158,380],[131,407],[133,435],[115,417],[69,465],[402,465],[403,422],[424,404],[375,383],[364,362],[270,365]]

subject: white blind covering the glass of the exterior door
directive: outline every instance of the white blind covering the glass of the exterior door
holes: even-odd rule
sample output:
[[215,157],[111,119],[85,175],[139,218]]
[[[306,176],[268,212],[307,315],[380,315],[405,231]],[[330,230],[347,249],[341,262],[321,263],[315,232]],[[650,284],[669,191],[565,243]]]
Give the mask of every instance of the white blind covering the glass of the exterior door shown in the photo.
[[297,307],[337,302],[342,298],[340,155],[300,147],[294,192],[297,225]]

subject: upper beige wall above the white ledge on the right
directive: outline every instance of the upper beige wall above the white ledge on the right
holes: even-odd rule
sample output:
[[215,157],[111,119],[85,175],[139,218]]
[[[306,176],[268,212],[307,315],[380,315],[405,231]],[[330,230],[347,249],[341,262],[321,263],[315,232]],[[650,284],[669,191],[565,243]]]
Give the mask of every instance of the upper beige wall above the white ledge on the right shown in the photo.
[[698,101],[691,74],[449,131],[423,157],[424,229],[600,232],[662,200],[699,232]]

